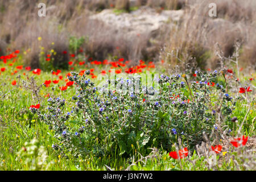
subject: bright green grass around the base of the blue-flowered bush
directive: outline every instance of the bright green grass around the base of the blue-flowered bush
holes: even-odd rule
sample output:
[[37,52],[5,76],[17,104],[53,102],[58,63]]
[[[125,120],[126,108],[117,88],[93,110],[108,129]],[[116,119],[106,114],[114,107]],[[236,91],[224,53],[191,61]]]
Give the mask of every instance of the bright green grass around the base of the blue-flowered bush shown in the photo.
[[[0,68],[1,67],[6,67],[6,65],[0,63]],[[88,155],[86,158],[74,158],[72,155],[60,156],[59,151],[54,151],[51,147],[52,143],[56,142],[52,131],[48,129],[47,125],[40,122],[28,109],[30,105],[37,104],[37,101],[32,100],[31,91],[11,85],[11,81],[13,80],[16,80],[18,84],[19,79],[16,78],[18,74],[20,74],[21,77],[20,82],[21,80],[26,80],[26,76],[22,75],[23,71],[16,73],[14,76],[11,76],[10,73],[10,70],[7,70],[0,75],[0,170],[29,170],[28,166],[24,164],[24,160],[26,159],[20,159],[17,153],[24,146],[25,142],[30,142],[32,139],[38,139],[39,146],[46,148],[48,155],[47,163],[52,163],[47,168],[48,170],[107,170],[108,168],[106,166],[115,170],[123,170],[130,166],[132,158],[123,158],[119,155],[115,155],[115,151],[113,151],[112,155],[103,156],[102,158],[93,154]],[[68,73],[68,71],[64,71],[61,75],[64,76],[66,73]],[[31,77],[34,75],[30,72],[28,76]],[[39,84],[43,83],[45,80],[53,80],[54,78],[51,73],[42,72],[40,76],[35,76],[35,79]],[[74,86],[64,92],[60,91],[58,85],[52,84],[51,86],[53,86],[53,90],[43,87],[39,92],[39,95],[43,98],[41,103],[42,107],[46,105],[47,99],[44,98],[44,96],[47,93],[49,93],[50,96],[61,96],[64,99],[68,99],[76,92]],[[242,123],[247,110],[248,107],[245,106],[245,101],[241,100],[237,103],[233,116],[238,117],[239,124]],[[251,109],[249,109],[246,121],[242,127],[242,134],[249,137],[255,136],[255,115],[255,102],[252,102]],[[232,122],[227,122],[226,125],[231,129],[233,127]],[[236,131],[238,130],[237,127],[235,129]],[[130,169],[209,170],[207,160],[203,156],[199,157],[196,152],[191,154],[190,158],[175,160],[168,156],[168,152],[170,151],[164,151],[160,148],[159,152],[155,154],[155,158],[152,158],[152,155],[150,155],[147,160],[141,158],[138,151],[134,151],[134,161],[137,162],[141,159],[141,162],[137,162]],[[143,151],[140,152],[142,155],[145,154]],[[232,152],[230,152],[230,154],[231,153]],[[226,163],[223,161],[222,153],[217,155],[216,158],[218,164],[216,164],[213,169],[237,170],[237,167],[232,162],[229,161],[229,163]],[[195,161],[195,164],[191,163],[192,160]]]

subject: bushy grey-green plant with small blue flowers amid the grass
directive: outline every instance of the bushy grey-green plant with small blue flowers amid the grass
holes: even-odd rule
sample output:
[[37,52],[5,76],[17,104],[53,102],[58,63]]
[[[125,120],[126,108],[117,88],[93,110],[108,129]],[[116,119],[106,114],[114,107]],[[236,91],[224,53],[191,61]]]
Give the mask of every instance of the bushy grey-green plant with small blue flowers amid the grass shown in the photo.
[[[72,72],[68,78],[75,82],[75,96],[49,98],[45,113],[36,113],[55,132],[58,142],[52,148],[64,154],[130,156],[134,148],[169,150],[177,138],[193,148],[203,132],[225,129],[236,105],[226,86],[215,84],[217,72],[196,73],[191,82],[185,75],[161,75],[143,85],[140,76],[130,76],[96,86],[86,77],[90,71],[83,76]],[[129,91],[123,92],[124,86]]]

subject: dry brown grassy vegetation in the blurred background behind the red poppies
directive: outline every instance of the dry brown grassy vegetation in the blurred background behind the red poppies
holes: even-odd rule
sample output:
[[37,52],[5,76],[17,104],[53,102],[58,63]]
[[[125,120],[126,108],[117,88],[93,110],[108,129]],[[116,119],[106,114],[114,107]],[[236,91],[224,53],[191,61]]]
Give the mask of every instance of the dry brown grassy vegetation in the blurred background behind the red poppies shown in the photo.
[[[47,16],[37,15],[39,1],[1,1],[0,2],[0,54],[7,45],[26,50],[31,48],[27,64],[38,67],[38,36],[42,36],[42,46],[49,48],[55,42],[58,53],[67,49],[69,36],[85,36],[86,53],[98,60],[109,56],[125,57],[130,60],[168,60],[171,65],[197,65],[201,68],[217,67],[218,57],[214,55],[216,43],[220,45],[225,57],[233,55],[234,44],[241,43],[241,63],[243,66],[255,64],[256,49],[256,2],[213,1],[217,4],[217,17],[208,15],[209,3],[204,0],[76,0],[40,1],[47,3]],[[133,6],[149,6],[163,9],[184,9],[185,14],[176,28],[166,28],[163,34],[142,36],[126,35],[122,30],[107,26],[88,16],[104,9],[124,9]],[[159,12],[160,12],[159,11]],[[173,22],[170,22],[173,23]],[[171,32],[169,34],[169,32]],[[166,35],[170,35],[167,38]],[[158,36],[158,42],[150,39]],[[118,47],[118,49],[117,49]],[[68,57],[58,59],[56,64],[68,61]]]

